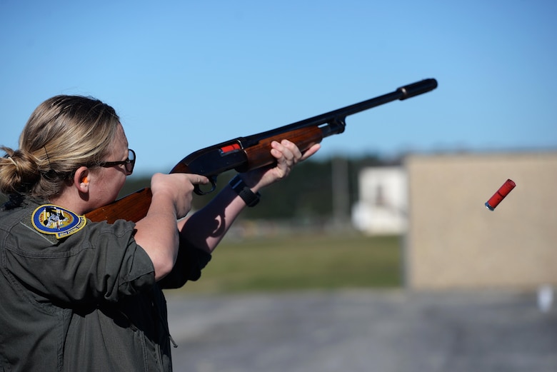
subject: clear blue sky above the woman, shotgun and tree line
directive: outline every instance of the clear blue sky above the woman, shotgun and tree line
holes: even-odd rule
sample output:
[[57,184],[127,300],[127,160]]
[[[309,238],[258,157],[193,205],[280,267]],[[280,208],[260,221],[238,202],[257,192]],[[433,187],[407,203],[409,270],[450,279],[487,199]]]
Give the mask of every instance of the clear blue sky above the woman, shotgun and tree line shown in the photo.
[[555,1],[0,1],[0,143],[50,96],[114,106],[136,173],[426,78],[320,156],[557,149]]

